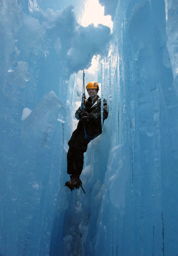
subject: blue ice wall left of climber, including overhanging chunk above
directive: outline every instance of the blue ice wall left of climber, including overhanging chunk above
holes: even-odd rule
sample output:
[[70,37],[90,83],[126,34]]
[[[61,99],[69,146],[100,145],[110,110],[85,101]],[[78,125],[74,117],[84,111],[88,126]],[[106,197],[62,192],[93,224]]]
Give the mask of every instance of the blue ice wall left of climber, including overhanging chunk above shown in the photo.
[[102,24],[80,26],[71,4],[0,3],[1,256],[49,255],[71,123],[69,78],[110,40]]

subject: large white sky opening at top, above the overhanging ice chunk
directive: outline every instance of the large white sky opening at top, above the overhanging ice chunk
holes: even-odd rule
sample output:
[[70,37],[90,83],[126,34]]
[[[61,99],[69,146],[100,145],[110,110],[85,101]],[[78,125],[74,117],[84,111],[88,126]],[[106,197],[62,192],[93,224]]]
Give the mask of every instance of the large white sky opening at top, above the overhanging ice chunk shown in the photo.
[[102,7],[98,0],[88,0],[88,2],[86,2],[82,20],[80,22],[84,27],[87,27],[91,23],[93,23],[94,26],[97,26],[98,24],[108,26],[112,32],[113,22],[111,16],[104,16],[104,6]]

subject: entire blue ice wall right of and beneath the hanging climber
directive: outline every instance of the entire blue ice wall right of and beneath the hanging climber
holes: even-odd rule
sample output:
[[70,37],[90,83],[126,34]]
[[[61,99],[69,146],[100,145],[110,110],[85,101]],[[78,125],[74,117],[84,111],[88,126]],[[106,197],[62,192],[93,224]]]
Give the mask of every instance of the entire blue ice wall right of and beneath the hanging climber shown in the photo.
[[59,192],[50,255],[176,256],[178,6],[100,2],[114,22],[100,61],[110,116],[86,153],[86,195],[69,194],[66,208]]

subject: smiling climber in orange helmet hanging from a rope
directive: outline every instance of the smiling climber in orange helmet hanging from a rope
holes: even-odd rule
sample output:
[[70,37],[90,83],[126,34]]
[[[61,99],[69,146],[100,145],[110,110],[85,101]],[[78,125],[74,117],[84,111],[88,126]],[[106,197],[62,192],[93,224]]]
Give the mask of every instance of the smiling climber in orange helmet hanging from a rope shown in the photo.
[[[81,104],[75,113],[79,122],[68,142],[67,173],[70,175],[70,181],[66,182],[65,186],[70,188],[71,191],[82,185],[79,177],[83,169],[84,152],[87,150],[88,143],[102,133],[101,98],[97,95],[98,83],[89,82],[86,90],[90,97],[85,106]],[[107,101],[104,99],[103,122],[107,117]]]

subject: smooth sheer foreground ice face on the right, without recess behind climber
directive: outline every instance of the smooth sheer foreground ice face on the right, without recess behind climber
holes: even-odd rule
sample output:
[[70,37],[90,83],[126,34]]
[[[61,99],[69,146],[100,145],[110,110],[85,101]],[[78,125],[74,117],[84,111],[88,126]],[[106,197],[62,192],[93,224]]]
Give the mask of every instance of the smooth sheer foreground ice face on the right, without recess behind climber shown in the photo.
[[164,1],[120,2],[115,12],[108,70],[117,67],[105,68],[104,79],[112,95],[119,81],[119,143],[108,162],[96,255],[177,255],[178,106],[168,22]]

